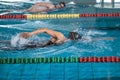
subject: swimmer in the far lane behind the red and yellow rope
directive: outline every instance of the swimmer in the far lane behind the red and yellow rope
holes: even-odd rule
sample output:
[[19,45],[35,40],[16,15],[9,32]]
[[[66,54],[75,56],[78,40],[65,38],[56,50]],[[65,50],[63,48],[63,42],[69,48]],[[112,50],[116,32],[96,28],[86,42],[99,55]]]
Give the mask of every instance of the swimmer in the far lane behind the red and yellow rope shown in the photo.
[[48,11],[51,11],[54,9],[60,9],[60,8],[64,8],[64,7],[65,7],[64,2],[60,2],[57,5],[53,5],[52,3],[48,3],[48,2],[37,2],[29,9],[23,10],[23,11],[24,12],[38,13],[38,12],[48,12]]

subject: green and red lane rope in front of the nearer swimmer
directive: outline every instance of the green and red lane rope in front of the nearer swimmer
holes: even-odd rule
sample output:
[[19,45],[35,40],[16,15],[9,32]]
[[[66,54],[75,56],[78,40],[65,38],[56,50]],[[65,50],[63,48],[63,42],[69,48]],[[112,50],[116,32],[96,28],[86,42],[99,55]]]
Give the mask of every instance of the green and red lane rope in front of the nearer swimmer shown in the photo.
[[49,57],[49,58],[0,58],[0,64],[37,63],[119,63],[120,57]]

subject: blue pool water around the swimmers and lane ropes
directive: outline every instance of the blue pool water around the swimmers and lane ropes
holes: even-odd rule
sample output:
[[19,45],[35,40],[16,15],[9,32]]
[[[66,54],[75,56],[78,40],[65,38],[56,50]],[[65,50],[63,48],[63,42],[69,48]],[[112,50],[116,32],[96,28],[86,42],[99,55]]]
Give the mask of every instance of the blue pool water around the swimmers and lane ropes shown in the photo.
[[[8,3],[8,2],[1,2]],[[10,2],[8,4],[11,4]],[[31,3],[13,3],[0,5],[2,10],[23,9]],[[15,7],[15,5],[18,5]],[[22,5],[22,7],[21,7]],[[116,13],[119,9],[100,9],[94,6],[67,5],[66,8],[53,13]],[[5,13],[21,14],[21,13]],[[22,13],[27,14],[27,13]],[[39,58],[39,57],[120,57],[120,18],[119,17],[89,17],[79,19],[49,19],[49,20],[0,20],[0,40],[11,40],[20,32],[29,32],[46,27],[62,32],[66,37],[70,31],[77,31],[87,40],[68,41],[59,46],[48,46],[27,50],[0,50],[1,58]],[[3,35],[4,34],[4,35]],[[89,38],[114,37],[111,40],[95,40]],[[33,41],[44,41],[50,37],[46,34],[33,36]],[[3,44],[1,44],[3,45]],[[0,64],[1,80],[119,80],[119,63],[40,63],[40,64]]]

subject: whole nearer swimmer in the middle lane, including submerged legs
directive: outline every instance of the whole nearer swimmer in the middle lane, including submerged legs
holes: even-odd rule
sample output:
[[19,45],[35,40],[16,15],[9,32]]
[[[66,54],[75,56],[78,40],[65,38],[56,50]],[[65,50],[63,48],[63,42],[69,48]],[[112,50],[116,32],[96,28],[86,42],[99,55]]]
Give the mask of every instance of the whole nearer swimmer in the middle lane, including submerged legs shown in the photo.
[[[26,42],[25,45],[21,45],[21,40],[20,39],[27,39],[30,36],[36,35],[36,34],[41,34],[41,33],[46,33],[51,36],[51,39],[48,40],[47,42]],[[10,41],[1,41],[0,44],[8,44],[7,46],[2,46],[0,47],[0,50],[21,50],[21,49],[28,49],[28,48],[39,48],[39,47],[46,47],[50,45],[59,45],[62,44],[68,40],[89,40],[87,37],[85,38],[84,36],[81,36],[77,32],[69,32],[68,38],[66,38],[61,32],[57,32],[48,28],[39,28],[37,30],[34,30],[32,32],[22,32],[19,34],[18,41],[16,41],[16,46],[11,46]],[[89,41],[98,41],[98,40],[111,40],[113,41],[115,38],[113,37],[99,37],[99,38],[93,38],[90,39]],[[26,40],[25,40],[26,41]],[[19,47],[20,46],[20,47]]]

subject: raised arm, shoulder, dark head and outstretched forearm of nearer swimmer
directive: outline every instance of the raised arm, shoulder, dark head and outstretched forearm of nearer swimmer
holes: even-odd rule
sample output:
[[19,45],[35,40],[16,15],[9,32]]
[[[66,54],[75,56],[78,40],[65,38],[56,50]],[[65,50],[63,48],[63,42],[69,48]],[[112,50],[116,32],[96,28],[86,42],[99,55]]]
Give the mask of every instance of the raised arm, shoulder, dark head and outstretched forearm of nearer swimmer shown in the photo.
[[[50,30],[48,28],[39,28],[32,32],[23,32],[20,34],[20,37],[27,39],[30,36],[33,36],[36,34],[41,34],[41,33],[46,33],[52,37],[49,41],[43,43],[42,47],[53,45],[53,44],[55,44],[55,45],[62,44],[68,40],[81,40],[82,39],[82,36],[80,34],[78,34],[77,32],[69,32],[69,36],[68,36],[68,38],[66,38],[61,32]],[[95,41],[95,40],[114,40],[114,38],[102,37],[102,38],[95,38],[92,41]]]

